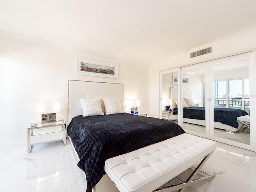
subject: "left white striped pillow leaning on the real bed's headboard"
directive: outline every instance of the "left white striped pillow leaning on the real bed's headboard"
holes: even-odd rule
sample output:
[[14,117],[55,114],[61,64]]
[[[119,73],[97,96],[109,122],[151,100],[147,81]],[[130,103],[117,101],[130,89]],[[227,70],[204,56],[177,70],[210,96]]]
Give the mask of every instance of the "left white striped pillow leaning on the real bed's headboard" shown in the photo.
[[102,112],[100,99],[80,99],[83,108],[83,117],[94,116],[94,115],[104,115]]

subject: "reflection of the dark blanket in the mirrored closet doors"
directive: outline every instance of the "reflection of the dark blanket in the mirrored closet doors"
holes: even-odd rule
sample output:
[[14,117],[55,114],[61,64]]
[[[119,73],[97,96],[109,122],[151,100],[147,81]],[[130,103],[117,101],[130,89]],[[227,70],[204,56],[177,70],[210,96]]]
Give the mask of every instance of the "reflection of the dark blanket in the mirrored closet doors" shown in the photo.
[[[237,117],[248,115],[241,109],[214,108],[214,121],[238,128]],[[183,108],[183,118],[205,120],[204,107]]]

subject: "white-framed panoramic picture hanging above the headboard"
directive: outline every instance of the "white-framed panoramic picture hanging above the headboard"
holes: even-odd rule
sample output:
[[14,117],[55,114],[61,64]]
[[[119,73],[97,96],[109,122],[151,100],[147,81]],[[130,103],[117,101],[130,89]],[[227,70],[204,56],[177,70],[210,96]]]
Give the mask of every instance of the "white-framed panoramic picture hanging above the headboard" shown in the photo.
[[77,58],[77,74],[107,78],[118,78],[118,64]]

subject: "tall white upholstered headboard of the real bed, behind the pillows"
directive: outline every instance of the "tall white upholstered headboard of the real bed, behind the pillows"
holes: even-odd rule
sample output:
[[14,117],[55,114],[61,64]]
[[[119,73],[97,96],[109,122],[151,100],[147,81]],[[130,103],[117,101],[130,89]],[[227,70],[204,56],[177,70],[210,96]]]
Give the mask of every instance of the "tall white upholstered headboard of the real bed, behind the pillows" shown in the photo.
[[[124,110],[124,84],[68,80],[68,124],[73,117],[83,114],[81,98],[120,99]],[[105,112],[103,100],[101,107]]]

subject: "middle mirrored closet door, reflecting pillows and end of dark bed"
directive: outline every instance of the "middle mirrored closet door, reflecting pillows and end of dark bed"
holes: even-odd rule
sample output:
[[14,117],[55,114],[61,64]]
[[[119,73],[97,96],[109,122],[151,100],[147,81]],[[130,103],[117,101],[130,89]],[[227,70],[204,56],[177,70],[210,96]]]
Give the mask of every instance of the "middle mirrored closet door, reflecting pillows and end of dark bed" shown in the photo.
[[[186,132],[209,138],[209,110],[208,89],[205,86],[208,83],[206,79],[207,64],[194,64],[182,68],[181,95],[182,100],[182,127]],[[207,105],[207,106],[206,106]]]

